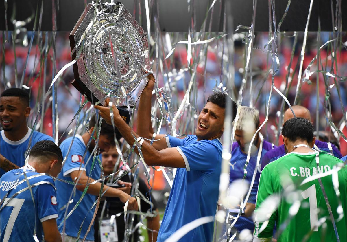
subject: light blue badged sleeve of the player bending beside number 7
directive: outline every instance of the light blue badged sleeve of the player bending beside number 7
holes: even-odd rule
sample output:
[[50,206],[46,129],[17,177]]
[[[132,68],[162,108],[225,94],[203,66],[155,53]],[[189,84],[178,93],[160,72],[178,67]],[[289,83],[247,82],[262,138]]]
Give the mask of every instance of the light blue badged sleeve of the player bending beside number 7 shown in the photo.
[[[76,140],[74,141],[74,143]],[[65,145],[66,146],[66,145]],[[66,156],[67,151],[64,152],[64,147],[61,148],[63,157]],[[85,150],[82,150],[78,147],[78,145],[74,145],[71,147],[70,152],[68,153],[68,156],[66,158],[65,164],[61,168],[61,172],[63,173],[64,177],[68,177],[71,172],[74,172],[75,170],[85,170],[86,168],[84,166],[84,155]]]

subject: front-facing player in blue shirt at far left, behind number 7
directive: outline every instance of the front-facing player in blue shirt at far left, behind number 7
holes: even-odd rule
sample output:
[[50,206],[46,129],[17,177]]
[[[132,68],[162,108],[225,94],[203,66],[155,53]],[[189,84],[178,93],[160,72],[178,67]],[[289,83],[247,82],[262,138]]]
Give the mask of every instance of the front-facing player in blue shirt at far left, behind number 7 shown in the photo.
[[24,166],[25,158],[36,142],[54,142],[51,136],[28,127],[27,118],[31,111],[29,101],[29,94],[20,88],[10,88],[1,93],[0,177],[12,169]]

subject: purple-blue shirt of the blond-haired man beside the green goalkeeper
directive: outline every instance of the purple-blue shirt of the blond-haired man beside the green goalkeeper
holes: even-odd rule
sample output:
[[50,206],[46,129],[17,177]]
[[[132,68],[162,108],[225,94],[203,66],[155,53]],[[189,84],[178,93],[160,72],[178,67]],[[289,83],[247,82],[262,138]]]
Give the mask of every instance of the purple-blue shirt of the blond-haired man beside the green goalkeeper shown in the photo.
[[[268,152],[268,150],[271,150],[273,148],[276,148],[276,146],[264,140],[260,162],[262,160],[262,157],[265,155],[265,153]],[[253,178],[253,173],[256,166],[257,157],[258,157],[258,150],[251,154],[251,157],[249,158],[249,163],[246,167],[247,175],[245,180],[248,182],[249,185],[251,184],[251,181]],[[234,142],[232,144],[231,160],[230,160],[230,184],[236,180],[243,179],[243,176],[244,176],[243,168],[246,164],[246,159],[247,159],[247,154],[241,151],[241,148],[237,142]],[[257,173],[255,175],[255,180],[253,183],[253,187],[251,189],[251,194],[249,195],[249,198],[247,201],[249,203],[255,204],[255,199],[256,199],[257,191],[258,191],[259,178],[260,178],[260,164],[259,164]],[[244,198],[246,198],[246,196]],[[237,219],[237,222],[235,223],[234,228],[236,228],[237,231],[239,232],[241,232],[245,228],[253,231],[254,230],[253,218],[240,216]]]

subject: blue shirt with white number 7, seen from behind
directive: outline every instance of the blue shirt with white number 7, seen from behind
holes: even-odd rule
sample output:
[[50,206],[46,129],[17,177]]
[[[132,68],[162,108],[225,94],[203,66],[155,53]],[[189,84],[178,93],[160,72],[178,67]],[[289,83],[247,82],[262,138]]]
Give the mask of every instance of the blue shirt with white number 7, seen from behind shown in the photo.
[[[28,188],[23,175],[23,167],[10,170],[1,177],[1,201],[6,196],[0,212],[1,241],[35,241],[33,237],[35,220],[36,236],[41,241],[43,236],[41,223],[58,217],[53,178],[48,175],[33,177],[34,175],[39,175],[39,173],[28,165],[26,176],[32,186],[34,203],[29,189],[19,193],[7,203],[7,199],[11,198],[13,194]],[[4,205],[6,206],[2,208]]]

